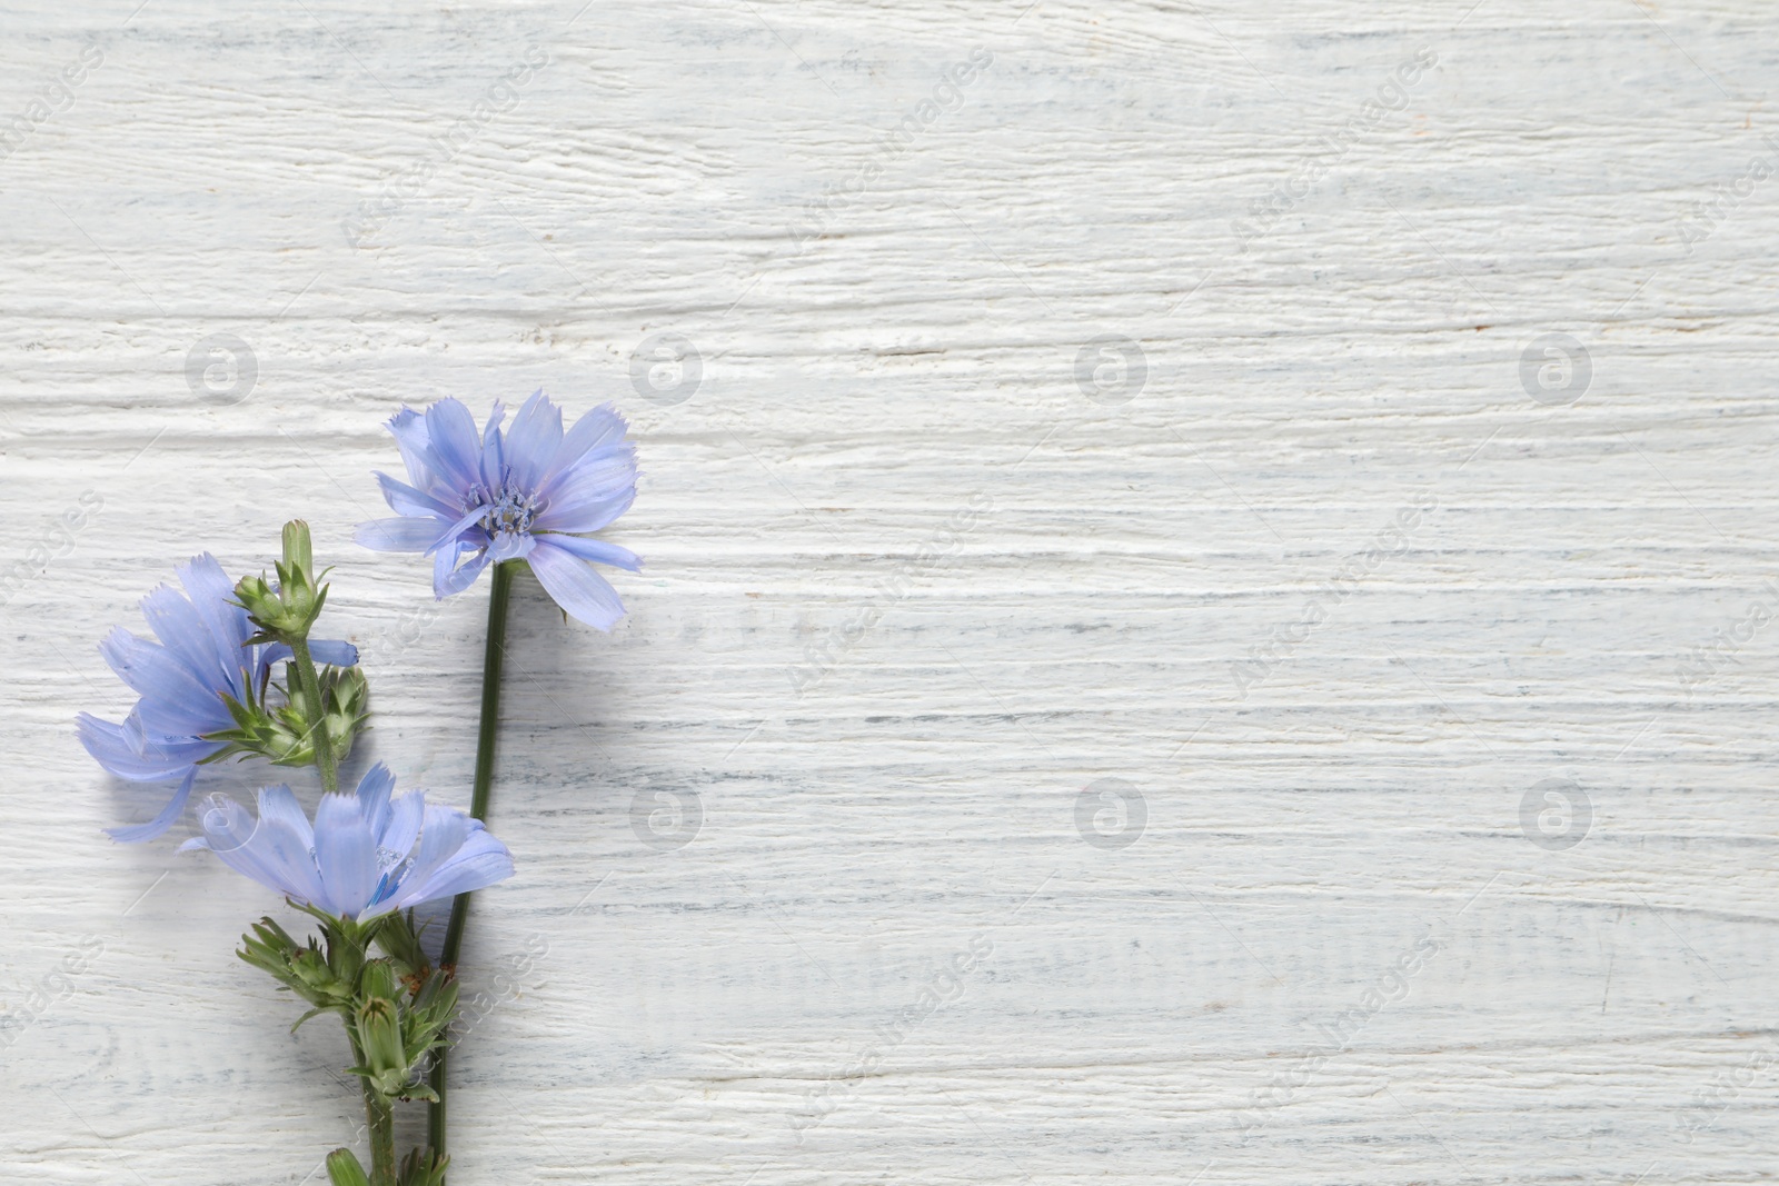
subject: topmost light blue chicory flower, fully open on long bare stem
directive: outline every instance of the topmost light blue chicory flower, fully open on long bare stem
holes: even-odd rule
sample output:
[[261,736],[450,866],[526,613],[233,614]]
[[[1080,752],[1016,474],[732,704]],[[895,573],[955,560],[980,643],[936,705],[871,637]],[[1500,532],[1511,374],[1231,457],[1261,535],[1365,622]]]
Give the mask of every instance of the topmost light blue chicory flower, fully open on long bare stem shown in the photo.
[[457,400],[439,400],[423,416],[398,411],[390,432],[411,485],[377,475],[400,517],[361,525],[358,542],[432,557],[439,599],[468,589],[493,562],[525,560],[569,615],[610,629],[624,606],[589,562],[635,573],[642,560],[584,535],[608,526],[637,496],[628,425],[607,405],[564,432],[562,411],[543,391],[525,402],[511,429],[502,430],[503,416],[496,402],[479,436]]

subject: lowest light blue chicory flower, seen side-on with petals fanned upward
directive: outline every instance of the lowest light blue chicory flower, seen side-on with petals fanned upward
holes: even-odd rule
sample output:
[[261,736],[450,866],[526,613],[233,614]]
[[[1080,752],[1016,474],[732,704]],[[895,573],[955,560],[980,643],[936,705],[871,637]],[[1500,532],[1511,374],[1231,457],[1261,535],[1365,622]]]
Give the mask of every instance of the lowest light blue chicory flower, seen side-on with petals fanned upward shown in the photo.
[[358,793],[322,795],[313,827],[288,786],[260,789],[258,818],[213,795],[205,834],[180,852],[208,848],[301,905],[359,923],[512,877],[512,853],[480,820],[429,807],[425,791],[390,798],[393,789],[395,775],[377,763]]

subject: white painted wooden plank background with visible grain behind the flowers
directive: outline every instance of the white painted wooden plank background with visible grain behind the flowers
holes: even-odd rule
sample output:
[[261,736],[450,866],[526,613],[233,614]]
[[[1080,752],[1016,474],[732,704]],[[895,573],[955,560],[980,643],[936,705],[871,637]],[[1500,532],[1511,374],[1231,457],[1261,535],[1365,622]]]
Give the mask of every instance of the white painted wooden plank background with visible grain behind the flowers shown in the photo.
[[455,1186],[1779,1175],[1768,5],[580,4],[0,5],[0,1181],[352,1138],[73,715],[304,516],[466,802],[486,581],[350,530],[537,386],[648,567],[519,585]]

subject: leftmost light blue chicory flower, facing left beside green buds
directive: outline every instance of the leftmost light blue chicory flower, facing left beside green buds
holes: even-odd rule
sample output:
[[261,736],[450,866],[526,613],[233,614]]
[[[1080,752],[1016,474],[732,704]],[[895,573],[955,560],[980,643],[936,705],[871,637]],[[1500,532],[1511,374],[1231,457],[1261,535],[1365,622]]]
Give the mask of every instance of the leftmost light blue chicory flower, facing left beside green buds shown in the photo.
[[[100,644],[100,654],[141,697],[121,724],[80,713],[80,743],[105,770],[132,782],[180,779],[180,789],[151,821],[107,829],[114,839],[160,836],[185,811],[197,765],[226,749],[205,736],[235,725],[229,695],[260,693],[272,663],[290,658],[283,644],[253,644],[247,612],[233,603],[235,585],[215,557],[205,553],[178,569],[181,594],[160,585],[142,599],[142,617],[160,642],[137,638],[121,626]],[[317,663],[350,667],[358,649],[347,642],[310,642]]]

